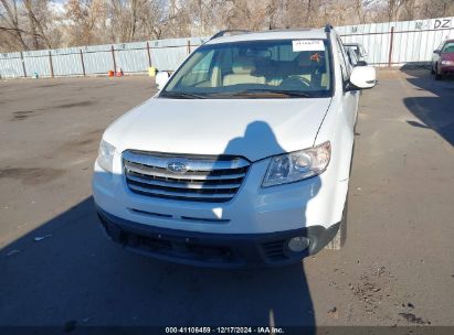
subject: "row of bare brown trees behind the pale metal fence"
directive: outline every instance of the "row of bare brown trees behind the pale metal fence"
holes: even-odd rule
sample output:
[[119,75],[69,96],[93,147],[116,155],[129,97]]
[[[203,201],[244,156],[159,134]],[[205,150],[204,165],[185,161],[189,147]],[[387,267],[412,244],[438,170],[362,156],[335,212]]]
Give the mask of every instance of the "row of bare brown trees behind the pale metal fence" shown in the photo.
[[454,15],[453,0],[0,0],[0,51]]

